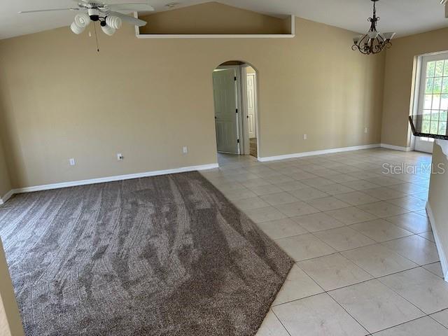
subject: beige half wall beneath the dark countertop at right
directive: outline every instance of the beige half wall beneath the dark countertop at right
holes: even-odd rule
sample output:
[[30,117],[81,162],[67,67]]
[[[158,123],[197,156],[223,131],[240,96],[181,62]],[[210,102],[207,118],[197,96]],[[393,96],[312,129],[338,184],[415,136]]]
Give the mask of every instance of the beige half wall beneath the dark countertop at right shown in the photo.
[[[444,169],[444,174],[431,175],[428,204],[433,212],[433,225],[440,242],[437,248],[439,253],[444,254],[440,255],[440,260],[446,262],[448,260],[448,160],[447,155],[437,144],[434,144],[433,165],[436,172],[442,172],[441,169]],[[447,272],[448,269],[444,271]]]

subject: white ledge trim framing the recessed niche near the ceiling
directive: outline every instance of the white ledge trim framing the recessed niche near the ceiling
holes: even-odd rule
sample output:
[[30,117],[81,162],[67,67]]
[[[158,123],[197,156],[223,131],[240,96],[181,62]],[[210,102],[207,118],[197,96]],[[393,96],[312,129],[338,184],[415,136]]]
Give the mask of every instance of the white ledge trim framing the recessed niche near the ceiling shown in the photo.
[[[137,12],[134,18],[139,18]],[[141,34],[140,27],[135,27],[137,38],[294,38],[295,16],[290,15],[290,34]],[[289,29],[288,29],[289,30]]]

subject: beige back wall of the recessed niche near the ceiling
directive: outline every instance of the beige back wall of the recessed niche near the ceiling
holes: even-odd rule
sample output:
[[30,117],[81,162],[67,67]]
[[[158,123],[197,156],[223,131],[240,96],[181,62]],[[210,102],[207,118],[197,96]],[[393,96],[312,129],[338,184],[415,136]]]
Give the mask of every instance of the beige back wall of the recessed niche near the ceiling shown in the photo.
[[[208,2],[141,17],[141,34],[290,34],[290,20]],[[289,25],[289,30],[287,29]]]

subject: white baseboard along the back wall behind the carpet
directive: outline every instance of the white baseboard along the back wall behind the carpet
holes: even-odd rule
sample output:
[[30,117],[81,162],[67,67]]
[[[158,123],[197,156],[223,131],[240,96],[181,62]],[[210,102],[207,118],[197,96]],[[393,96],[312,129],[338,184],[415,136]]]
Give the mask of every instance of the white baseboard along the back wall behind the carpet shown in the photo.
[[176,169],[167,169],[167,170],[158,170],[155,172],[144,172],[137,174],[127,174],[127,175],[119,175],[119,176],[109,176],[109,177],[101,177],[99,179],[90,179],[90,180],[82,180],[82,181],[71,181],[71,182],[62,182],[62,183],[53,183],[53,184],[45,184],[43,186],[34,186],[34,187],[26,187],[26,188],[18,188],[10,190],[3,198],[0,199],[0,204],[3,204],[14,194],[20,193],[32,193],[34,191],[41,190],[51,190],[51,189],[59,189],[59,188],[67,188],[67,187],[76,187],[76,186],[85,186],[87,184],[96,184],[96,183],[105,183],[105,182],[113,182],[113,181],[123,181],[130,179],[140,179],[142,177],[150,177],[150,176],[159,176],[159,175],[167,175],[167,174],[176,174],[176,173],[185,173],[185,172],[193,172],[195,170],[207,170],[207,169],[215,169],[218,168],[217,163],[212,163],[210,165],[200,165],[200,166],[191,166],[191,167],[181,167]]

